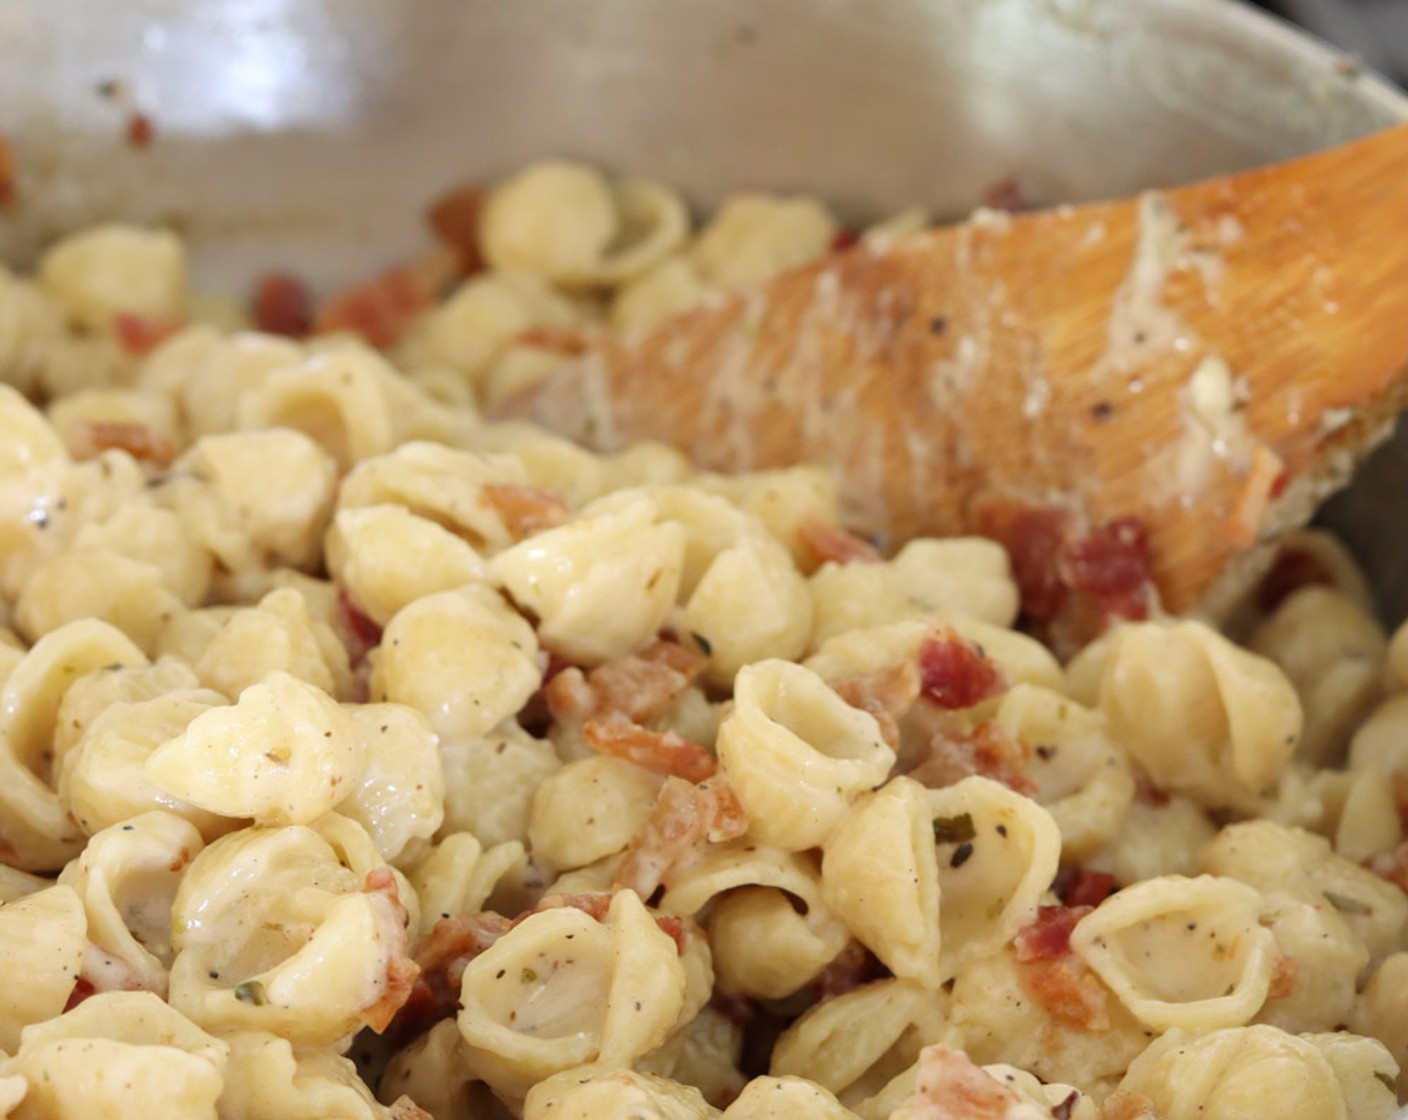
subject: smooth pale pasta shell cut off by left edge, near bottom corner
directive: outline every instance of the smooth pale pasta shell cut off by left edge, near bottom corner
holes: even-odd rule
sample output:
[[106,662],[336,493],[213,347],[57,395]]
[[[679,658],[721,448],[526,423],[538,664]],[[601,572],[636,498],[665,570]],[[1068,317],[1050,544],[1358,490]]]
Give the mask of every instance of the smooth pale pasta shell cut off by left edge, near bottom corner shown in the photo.
[[21,1028],[63,1012],[83,968],[87,916],[70,886],[48,886],[0,904],[0,1050]]

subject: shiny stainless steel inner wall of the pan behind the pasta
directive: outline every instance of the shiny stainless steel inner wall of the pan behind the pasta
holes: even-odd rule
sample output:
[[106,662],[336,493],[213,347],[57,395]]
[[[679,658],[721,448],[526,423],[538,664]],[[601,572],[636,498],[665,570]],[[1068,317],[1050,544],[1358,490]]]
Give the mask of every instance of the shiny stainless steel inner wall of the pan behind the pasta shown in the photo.
[[[1408,116],[1229,0],[4,0],[0,58],[21,168],[0,259],[122,216],[183,230],[200,278],[239,286],[365,273],[424,237],[445,186],[545,154],[701,206],[748,185],[959,214],[1007,178],[1108,197]],[[125,142],[134,111],[148,148]],[[1384,506],[1346,509],[1408,614],[1408,537],[1384,545]]]

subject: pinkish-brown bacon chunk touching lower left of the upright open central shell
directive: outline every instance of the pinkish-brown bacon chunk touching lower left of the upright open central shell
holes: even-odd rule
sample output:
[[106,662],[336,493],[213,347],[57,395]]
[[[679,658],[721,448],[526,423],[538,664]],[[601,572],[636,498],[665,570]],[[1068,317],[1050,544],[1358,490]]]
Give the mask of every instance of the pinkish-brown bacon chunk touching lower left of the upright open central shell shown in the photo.
[[667,778],[617,868],[615,886],[649,899],[705,844],[722,844],[748,831],[748,816],[724,778],[691,785]]

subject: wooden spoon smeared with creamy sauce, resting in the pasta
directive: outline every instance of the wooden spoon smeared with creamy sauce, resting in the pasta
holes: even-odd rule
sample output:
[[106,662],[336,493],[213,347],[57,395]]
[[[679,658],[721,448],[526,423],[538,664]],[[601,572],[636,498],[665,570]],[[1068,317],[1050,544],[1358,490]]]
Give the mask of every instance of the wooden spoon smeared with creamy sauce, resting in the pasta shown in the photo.
[[505,411],[718,471],[824,463],[890,547],[1135,517],[1164,606],[1215,613],[1408,399],[1408,125],[860,245],[586,345]]

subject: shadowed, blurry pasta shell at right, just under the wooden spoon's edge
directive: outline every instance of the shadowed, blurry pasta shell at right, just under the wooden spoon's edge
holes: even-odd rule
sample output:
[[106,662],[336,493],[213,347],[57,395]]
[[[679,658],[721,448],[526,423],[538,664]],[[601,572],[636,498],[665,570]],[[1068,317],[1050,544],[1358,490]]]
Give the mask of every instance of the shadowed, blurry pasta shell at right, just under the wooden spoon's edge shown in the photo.
[[1388,652],[1378,621],[1343,592],[1302,587],[1253,631],[1247,648],[1280,665],[1301,697],[1297,754],[1316,766],[1338,762],[1378,699]]

